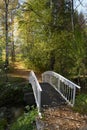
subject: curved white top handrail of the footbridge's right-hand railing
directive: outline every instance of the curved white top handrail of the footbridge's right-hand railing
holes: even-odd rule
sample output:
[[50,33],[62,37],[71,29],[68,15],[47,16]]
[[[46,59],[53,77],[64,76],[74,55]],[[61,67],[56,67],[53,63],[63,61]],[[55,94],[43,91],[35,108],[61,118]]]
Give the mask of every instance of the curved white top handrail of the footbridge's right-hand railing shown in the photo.
[[64,82],[66,85],[69,85],[71,87],[75,86],[77,87],[78,89],[80,89],[81,87],[75,83],[73,83],[72,81],[66,79],[65,77],[63,77],[62,75],[56,73],[56,72],[53,72],[53,71],[46,71],[42,74],[42,80],[43,80],[43,75],[45,74],[49,74],[49,75],[53,75],[55,76],[56,78],[59,78],[62,82]]

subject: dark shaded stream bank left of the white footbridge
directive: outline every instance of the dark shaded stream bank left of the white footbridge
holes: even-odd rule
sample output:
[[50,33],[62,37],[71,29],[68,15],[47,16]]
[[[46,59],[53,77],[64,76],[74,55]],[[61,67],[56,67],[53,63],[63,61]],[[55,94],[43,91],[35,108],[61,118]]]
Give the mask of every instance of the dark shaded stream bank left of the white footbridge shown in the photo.
[[25,81],[13,84],[6,83],[0,87],[0,130],[9,130],[9,127],[20,116],[27,113],[26,106],[32,110],[36,107],[31,85]]

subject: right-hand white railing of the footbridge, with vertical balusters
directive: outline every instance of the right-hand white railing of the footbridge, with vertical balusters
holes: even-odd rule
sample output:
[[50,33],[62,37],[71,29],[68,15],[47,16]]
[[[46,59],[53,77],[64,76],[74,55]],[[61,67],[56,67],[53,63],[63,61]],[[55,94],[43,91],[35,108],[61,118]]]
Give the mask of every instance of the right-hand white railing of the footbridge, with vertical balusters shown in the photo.
[[80,89],[80,86],[53,71],[44,72],[42,82],[51,84],[69,105],[74,106],[76,88]]

